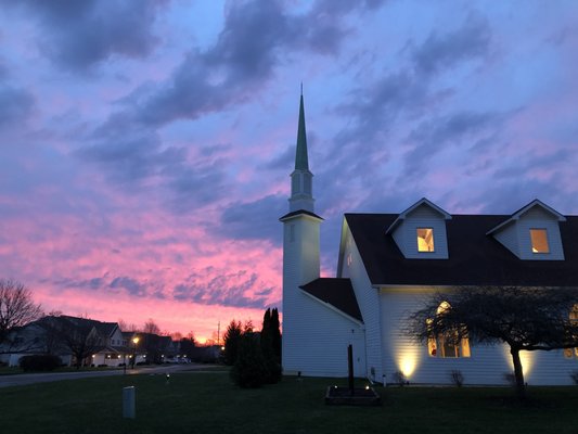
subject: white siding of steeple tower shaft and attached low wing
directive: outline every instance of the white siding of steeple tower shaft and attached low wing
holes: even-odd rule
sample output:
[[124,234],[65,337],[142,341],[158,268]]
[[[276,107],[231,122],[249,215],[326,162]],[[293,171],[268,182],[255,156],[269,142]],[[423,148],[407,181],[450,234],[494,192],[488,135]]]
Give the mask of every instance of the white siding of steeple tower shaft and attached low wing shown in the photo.
[[283,226],[284,373],[346,376],[347,346],[351,344],[355,374],[364,376],[362,327],[299,289],[319,278],[320,221],[301,215],[284,221]]

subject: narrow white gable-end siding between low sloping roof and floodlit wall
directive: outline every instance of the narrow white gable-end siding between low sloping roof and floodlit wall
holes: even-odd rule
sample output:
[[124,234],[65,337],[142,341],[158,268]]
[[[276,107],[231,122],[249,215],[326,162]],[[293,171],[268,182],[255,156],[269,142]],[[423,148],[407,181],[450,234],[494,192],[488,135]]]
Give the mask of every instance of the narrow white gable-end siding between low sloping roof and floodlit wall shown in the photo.
[[356,294],[359,309],[365,326],[367,369],[364,375],[382,381],[382,331],[380,314],[380,296],[376,289],[371,286],[365,268],[359,255],[355,240],[346,226],[346,246],[344,250],[344,266],[341,277],[349,277]]

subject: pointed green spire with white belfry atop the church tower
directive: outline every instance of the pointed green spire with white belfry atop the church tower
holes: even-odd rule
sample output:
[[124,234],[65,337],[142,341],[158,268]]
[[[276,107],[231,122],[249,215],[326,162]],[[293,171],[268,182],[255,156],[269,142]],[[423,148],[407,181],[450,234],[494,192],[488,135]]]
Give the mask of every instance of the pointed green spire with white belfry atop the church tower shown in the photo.
[[299,124],[295,151],[295,170],[291,174],[290,212],[307,210],[313,213],[313,174],[309,171],[307,155],[307,132],[305,130],[305,104],[299,101]]

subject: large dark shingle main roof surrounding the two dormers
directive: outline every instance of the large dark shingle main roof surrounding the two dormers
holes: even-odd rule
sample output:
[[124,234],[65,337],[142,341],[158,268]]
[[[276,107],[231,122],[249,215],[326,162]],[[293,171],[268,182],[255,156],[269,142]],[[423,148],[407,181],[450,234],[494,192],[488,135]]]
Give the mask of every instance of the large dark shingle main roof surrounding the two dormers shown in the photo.
[[578,286],[578,216],[560,222],[565,260],[522,260],[486,235],[506,215],[452,215],[449,259],[406,259],[385,230],[397,214],[346,214],[372,284]]

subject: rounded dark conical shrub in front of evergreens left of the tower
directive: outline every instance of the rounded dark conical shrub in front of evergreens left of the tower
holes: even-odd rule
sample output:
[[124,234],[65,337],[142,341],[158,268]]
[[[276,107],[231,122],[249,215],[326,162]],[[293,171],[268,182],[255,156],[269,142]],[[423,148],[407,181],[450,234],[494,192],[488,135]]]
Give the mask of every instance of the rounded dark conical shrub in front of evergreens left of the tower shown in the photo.
[[240,387],[260,387],[267,382],[269,371],[259,342],[253,333],[244,333],[239,343],[236,361],[231,378]]

